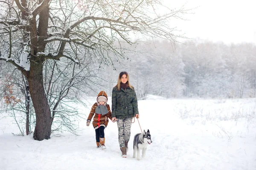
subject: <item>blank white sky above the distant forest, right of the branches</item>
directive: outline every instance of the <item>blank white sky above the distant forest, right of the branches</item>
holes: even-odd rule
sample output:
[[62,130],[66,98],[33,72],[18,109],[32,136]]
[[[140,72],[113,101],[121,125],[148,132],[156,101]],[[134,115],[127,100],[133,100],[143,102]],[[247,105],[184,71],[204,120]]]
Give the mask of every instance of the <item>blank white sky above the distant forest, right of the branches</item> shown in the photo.
[[[169,0],[166,3],[171,4]],[[181,21],[178,28],[189,38],[200,37],[225,43],[253,42],[256,44],[256,10],[254,0],[180,0],[187,8],[194,8],[189,21]],[[179,6],[179,5],[178,5]]]

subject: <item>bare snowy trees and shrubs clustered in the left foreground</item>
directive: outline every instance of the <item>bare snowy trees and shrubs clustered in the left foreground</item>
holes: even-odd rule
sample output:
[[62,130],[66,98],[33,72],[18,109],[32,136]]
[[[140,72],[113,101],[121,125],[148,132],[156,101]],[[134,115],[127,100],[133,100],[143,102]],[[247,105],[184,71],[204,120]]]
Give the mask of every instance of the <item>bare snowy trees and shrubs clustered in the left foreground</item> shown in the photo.
[[38,141],[75,133],[80,115],[66,102],[85,105],[81,96],[106,87],[102,67],[120,65],[139,42],[185,38],[170,23],[191,10],[158,0],[0,0],[1,111],[17,124],[21,114],[26,135],[35,125]]

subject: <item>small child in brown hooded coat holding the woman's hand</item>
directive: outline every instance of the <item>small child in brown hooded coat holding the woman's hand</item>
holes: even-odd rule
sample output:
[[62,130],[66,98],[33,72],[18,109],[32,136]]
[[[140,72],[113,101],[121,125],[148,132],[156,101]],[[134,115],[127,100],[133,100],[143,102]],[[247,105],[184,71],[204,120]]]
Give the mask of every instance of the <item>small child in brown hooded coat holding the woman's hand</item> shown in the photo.
[[[90,121],[93,118],[93,127],[96,133],[97,148],[101,147],[102,149],[106,149],[104,129],[108,125],[108,118],[112,119],[110,106],[107,104],[107,102],[108,96],[106,92],[99,92],[97,102],[92,106],[86,123],[86,125],[89,126]],[[95,116],[93,117],[94,113]]]

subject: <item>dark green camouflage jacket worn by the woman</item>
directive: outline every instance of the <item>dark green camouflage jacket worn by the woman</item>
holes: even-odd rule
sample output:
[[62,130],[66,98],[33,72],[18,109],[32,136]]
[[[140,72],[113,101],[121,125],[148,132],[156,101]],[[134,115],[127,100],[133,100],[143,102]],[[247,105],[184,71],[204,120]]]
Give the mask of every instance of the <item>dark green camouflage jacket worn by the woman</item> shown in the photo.
[[116,87],[112,90],[112,117],[117,119],[132,118],[139,114],[137,96],[134,89],[123,88],[120,91]]

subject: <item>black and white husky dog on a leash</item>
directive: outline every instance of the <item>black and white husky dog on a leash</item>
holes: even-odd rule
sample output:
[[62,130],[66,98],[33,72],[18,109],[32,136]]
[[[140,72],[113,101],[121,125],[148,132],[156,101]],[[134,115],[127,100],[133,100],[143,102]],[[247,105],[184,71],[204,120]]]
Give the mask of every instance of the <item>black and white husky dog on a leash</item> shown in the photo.
[[148,144],[151,144],[151,135],[149,133],[149,130],[147,133],[145,130],[143,130],[143,133],[137,133],[134,136],[134,155],[133,158],[136,156],[137,152],[137,160],[140,160],[140,150],[142,150],[142,157],[144,158],[146,156],[146,151]]

